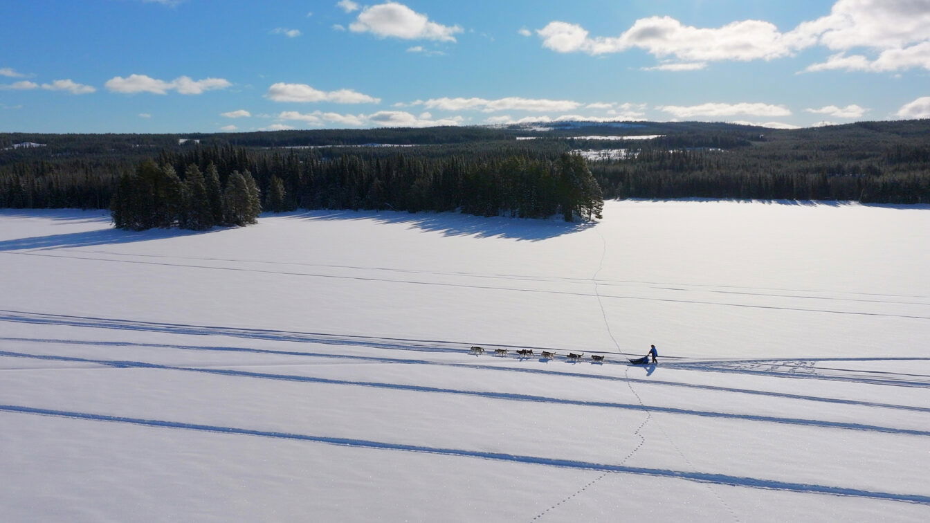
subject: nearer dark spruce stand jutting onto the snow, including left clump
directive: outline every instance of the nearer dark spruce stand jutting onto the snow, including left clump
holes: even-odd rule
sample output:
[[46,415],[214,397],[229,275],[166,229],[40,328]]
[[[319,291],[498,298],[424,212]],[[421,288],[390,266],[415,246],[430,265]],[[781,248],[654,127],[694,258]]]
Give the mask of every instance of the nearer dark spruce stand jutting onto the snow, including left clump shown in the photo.
[[554,160],[400,154],[343,154],[335,159],[289,154],[274,156],[270,163],[257,159],[243,150],[198,149],[161,154],[157,163],[145,160],[119,178],[110,206],[113,223],[132,230],[204,230],[254,223],[262,209],[296,208],[459,210],[590,221],[601,218],[604,207],[591,169],[575,154]]

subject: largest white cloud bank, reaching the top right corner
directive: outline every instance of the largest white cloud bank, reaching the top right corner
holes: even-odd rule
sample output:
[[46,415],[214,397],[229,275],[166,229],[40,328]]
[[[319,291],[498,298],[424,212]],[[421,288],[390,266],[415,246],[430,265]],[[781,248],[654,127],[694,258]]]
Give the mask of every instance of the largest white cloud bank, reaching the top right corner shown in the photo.
[[[637,47],[659,59],[681,60],[647,70],[693,70],[697,63],[711,60],[772,60],[813,46],[840,52],[807,67],[808,72],[930,70],[930,0],[838,0],[829,15],[784,33],[765,20],[698,28],[671,17],[649,17],[634,21],[617,36],[591,36],[582,26],[561,20],[551,21],[537,34],[543,47],[561,53],[601,55]],[[856,47],[880,54],[875,59],[847,55]]]

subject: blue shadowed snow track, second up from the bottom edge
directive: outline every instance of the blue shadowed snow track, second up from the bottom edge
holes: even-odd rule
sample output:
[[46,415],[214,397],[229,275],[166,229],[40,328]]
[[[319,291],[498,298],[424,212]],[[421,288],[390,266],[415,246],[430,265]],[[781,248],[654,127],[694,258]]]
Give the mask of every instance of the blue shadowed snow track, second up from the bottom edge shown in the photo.
[[401,391],[420,392],[420,393],[433,393],[433,394],[458,395],[458,396],[479,396],[479,397],[485,397],[489,399],[503,399],[503,400],[510,400],[510,401],[525,401],[525,402],[547,403],[547,404],[556,404],[556,405],[572,405],[572,406],[578,406],[578,407],[644,410],[647,412],[683,414],[687,416],[699,416],[703,418],[720,418],[720,419],[728,419],[728,420],[742,420],[742,421],[749,421],[749,422],[783,423],[783,424],[790,424],[790,425],[804,425],[804,426],[816,426],[816,427],[836,428],[836,429],[845,429],[845,430],[881,432],[881,433],[899,434],[899,435],[907,435],[907,436],[930,436],[930,431],[884,427],[880,425],[870,425],[866,423],[826,422],[822,420],[807,420],[803,418],[782,418],[782,417],[776,417],[776,416],[760,416],[756,414],[735,414],[735,413],[730,413],[730,412],[714,412],[710,410],[676,409],[673,407],[644,406],[638,403],[629,404],[629,403],[615,403],[615,402],[607,402],[607,401],[583,401],[579,399],[563,399],[563,398],[558,398],[558,397],[531,396],[531,395],[513,394],[513,393],[469,391],[469,390],[460,390],[460,389],[448,389],[448,388],[443,388],[443,387],[429,387],[429,386],[424,386],[424,385],[409,385],[409,384],[402,384],[402,383],[354,382],[350,380],[315,378],[311,376],[300,376],[300,375],[294,375],[294,374],[271,374],[271,373],[266,373],[266,372],[252,372],[248,370],[175,367],[171,365],[159,365],[155,363],[146,363],[142,361],[91,359],[91,358],[84,358],[84,357],[61,356],[61,355],[32,355],[32,354],[25,354],[25,353],[13,353],[13,352],[8,352],[8,351],[0,351],[0,356],[23,357],[23,358],[29,358],[29,359],[44,359],[44,360],[52,360],[52,361],[68,361],[68,362],[76,362],[76,363],[94,363],[94,364],[103,365],[106,367],[114,367],[117,369],[130,369],[131,368],[131,369],[177,370],[177,371],[183,371],[183,372],[200,372],[200,373],[205,373],[205,374],[216,374],[220,376],[258,378],[258,379],[263,379],[263,380],[280,380],[280,381],[285,381],[285,382],[310,382],[310,383],[324,383],[324,384],[331,384],[331,385],[351,385],[351,386],[372,387],[372,388],[379,388],[379,389],[401,390]]

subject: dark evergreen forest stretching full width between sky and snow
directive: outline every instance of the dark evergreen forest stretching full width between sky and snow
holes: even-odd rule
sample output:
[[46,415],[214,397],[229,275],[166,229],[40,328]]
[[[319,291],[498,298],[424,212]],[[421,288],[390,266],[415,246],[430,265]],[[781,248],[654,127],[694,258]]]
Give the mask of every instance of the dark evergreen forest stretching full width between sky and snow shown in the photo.
[[0,208],[110,208],[133,230],[297,208],[587,221],[631,197],[930,203],[930,120],[0,134]]

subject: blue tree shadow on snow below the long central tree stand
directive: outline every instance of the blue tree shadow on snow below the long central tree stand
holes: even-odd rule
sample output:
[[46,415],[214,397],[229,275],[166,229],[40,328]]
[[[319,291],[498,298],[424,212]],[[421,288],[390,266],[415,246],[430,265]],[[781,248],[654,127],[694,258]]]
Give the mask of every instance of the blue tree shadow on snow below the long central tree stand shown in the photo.
[[396,211],[307,211],[286,216],[309,221],[376,221],[402,224],[424,232],[444,236],[476,238],[508,238],[539,241],[587,230],[594,223],[569,223],[557,220],[472,216],[456,212],[396,212]]

